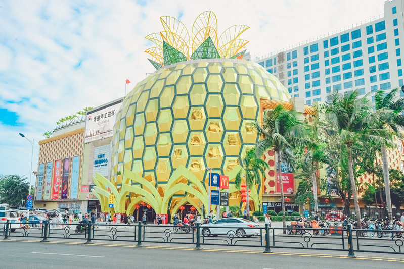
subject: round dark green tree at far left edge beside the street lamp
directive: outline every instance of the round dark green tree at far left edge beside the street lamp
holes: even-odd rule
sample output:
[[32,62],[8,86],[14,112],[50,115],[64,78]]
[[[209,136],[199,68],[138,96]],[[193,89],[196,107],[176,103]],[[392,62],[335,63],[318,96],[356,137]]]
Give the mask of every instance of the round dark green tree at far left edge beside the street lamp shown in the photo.
[[[21,201],[26,200],[29,194],[29,183],[26,179],[18,175],[0,176],[0,203],[21,205]],[[31,194],[33,193],[34,188],[31,187]]]

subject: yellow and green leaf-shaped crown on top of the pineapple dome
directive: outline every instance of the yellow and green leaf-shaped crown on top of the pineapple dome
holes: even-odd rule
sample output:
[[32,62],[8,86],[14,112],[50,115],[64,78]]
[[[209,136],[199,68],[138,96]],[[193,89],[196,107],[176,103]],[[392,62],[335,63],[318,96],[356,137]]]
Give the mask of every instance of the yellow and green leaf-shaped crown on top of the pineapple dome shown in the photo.
[[156,44],[145,50],[152,56],[148,59],[156,68],[187,60],[237,58],[245,53],[249,42],[241,39],[246,25],[233,25],[217,36],[217,19],[212,11],[201,13],[192,26],[191,38],[185,25],[169,16],[160,17],[164,31],[149,34],[145,38]]

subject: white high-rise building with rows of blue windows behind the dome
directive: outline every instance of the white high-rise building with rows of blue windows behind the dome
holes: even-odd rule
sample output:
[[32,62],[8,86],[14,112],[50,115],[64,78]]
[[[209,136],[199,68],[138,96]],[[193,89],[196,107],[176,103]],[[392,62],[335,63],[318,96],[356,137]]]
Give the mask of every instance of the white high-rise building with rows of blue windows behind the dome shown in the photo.
[[308,105],[325,102],[332,89],[358,89],[361,95],[371,92],[374,102],[378,89],[389,92],[403,85],[403,45],[404,0],[392,0],[384,3],[382,18],[251,60]]

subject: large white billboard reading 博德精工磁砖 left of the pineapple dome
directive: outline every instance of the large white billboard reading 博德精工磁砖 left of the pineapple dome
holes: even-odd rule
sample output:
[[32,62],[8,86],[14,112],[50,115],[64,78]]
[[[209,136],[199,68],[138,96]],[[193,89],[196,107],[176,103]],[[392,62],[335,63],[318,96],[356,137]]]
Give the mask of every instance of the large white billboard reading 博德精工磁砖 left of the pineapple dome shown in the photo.
[[87,114],[84,143],[113,135],[116,113],[119,111],[121,104],[122,100],[119,100]]

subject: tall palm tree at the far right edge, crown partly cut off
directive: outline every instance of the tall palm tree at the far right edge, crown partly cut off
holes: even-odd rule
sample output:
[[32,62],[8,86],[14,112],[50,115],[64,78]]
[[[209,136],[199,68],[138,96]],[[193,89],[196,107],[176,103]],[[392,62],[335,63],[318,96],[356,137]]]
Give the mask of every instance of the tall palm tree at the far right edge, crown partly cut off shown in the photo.
[[[378,90],[375,93],[375,106],[376,110],[390,110],[393,113],[385,113],[384,115],[387,117],[383,117],[376,124],[377,127],[382,129],[385,128],[392,132],[392,134],[396,135],[398,138],[402,138],[402,134],[400,132],[400,127],[404,127],[404,116],[402,113],[404,112],[404,98],[396,98],[397,92],[399,92],[398,88],[391,90],[386,96],[384,96],[383,90]],[[389,218],[392,218],[392,207],[391,207],[391,195],[390,195],[390,175],[388,168],[388,160],[387,160],[387,150],[386,147],[391,147],[391,140],[388,141],[390,143],[381,144],[381,152],[382,152],[382,161],[383,161],[383,178],[384,178],[384,187],[386,192],[386,203],[387,203],[387,213]]]

